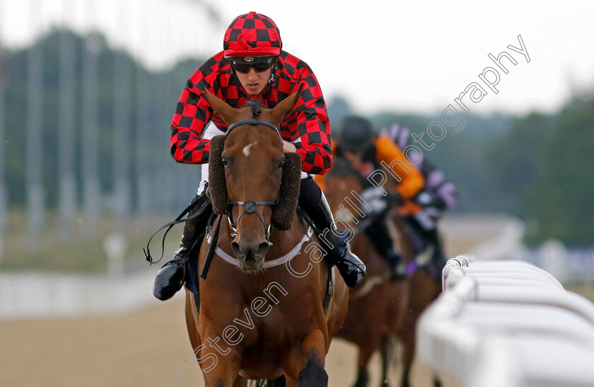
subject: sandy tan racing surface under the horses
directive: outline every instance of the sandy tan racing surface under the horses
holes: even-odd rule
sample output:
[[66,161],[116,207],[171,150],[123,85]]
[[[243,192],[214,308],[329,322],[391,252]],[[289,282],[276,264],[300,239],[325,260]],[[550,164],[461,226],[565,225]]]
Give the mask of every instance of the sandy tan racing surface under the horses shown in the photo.
[[[180,296],[134,313],[0,322],[0,348],[0,386],[204,386]],[[355,364],[354,346],[334,340],[330,386],[354,383]],[[378,386],[377,356],[371,373]]]

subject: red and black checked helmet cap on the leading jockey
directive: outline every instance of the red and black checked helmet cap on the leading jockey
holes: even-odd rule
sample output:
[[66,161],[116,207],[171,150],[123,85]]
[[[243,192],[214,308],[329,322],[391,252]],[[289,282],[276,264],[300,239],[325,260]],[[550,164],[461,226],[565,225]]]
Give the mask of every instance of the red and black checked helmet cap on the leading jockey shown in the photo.
[[282,46],[281,33],[274,21],[255,12],[235,18],[223,40],[226,57],[279,55]]

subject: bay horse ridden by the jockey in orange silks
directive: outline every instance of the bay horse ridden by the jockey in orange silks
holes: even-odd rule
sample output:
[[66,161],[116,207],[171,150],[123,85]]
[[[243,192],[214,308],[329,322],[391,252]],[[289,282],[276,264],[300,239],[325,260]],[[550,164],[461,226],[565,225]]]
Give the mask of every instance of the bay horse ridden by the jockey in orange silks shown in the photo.
[[[400,383],[401,386],[409,386],[417,320],[441,289],[423,270],[415,270],[402,282],[390,280],[388,263],[375,250],[366,233],[361,232],[366,222],[370,221],[364,217],[364,205],[361,205],[359,210],[352,207],[352,204],[357,203],[354,195],[361,194],[363,185],[361,175],[351,169],[348,161],[334,158],[324,184],[325,195],[332,212],[343,224],[347,224],[351,229],[360,230],[355,231],[356,236],[351,240],[351,249],[367,267],[366,277],[355,289],[351,289],[347,318],[337,333],[337,337],[354,343],[359,349],[357,379],[354,386],[368,386],[368,362],[377,350],[380,351],[382,362],[381,386],[388,386],[388,366],[395,337],[402,343]],[[414,250],[400,214],[392,209],[388,213],[388,222],[391,223],[394,240],[402,258],[407,262],[413,262]]]

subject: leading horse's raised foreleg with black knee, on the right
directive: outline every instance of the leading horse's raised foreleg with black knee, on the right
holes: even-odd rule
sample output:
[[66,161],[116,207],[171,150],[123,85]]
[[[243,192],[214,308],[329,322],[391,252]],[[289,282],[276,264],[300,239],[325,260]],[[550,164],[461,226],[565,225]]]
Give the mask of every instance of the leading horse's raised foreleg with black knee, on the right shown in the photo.
[[285,367],[286,386],[327,387],[325,355],[325,337],[322,332],[315,330],[309,333]]

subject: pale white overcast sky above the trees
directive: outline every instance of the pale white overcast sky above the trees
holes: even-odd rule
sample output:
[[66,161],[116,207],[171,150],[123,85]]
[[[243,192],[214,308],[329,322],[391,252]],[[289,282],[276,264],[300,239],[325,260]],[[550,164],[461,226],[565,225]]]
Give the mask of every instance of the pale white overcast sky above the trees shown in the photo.
[[[203,4],[218,11],[221,23],[206,16]],[[16,47],[52,24],[94,27],[110,44],[165,67],[187,54],[221,50],[227,25],[248,11],[279,25],[284,50],[310,64],[327,98],[342,94],[363,114],[441,111],[472,82],[487,94],[462,102],[480,113],[551,111],[572,87],[594,87],[594,1],[588,0],[0,0],[0,36]],[[521,47],[518,35],[530,62],[507,48]],[[504,50],[518,63],[503,59],[508,74],[488,57]],[[499,93],[479,79],[487,67],[498,70]]]

